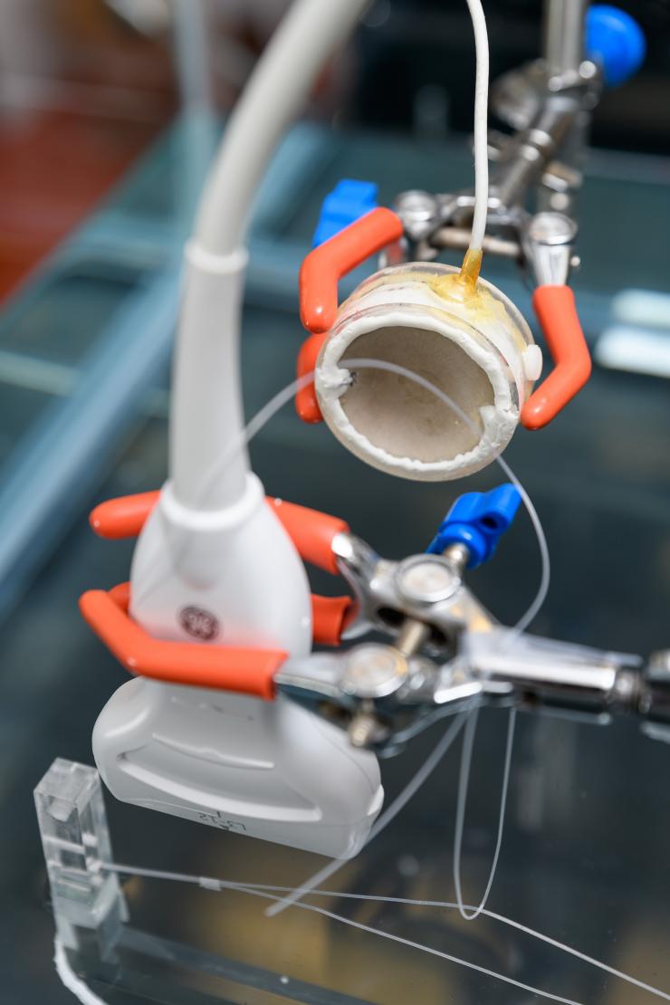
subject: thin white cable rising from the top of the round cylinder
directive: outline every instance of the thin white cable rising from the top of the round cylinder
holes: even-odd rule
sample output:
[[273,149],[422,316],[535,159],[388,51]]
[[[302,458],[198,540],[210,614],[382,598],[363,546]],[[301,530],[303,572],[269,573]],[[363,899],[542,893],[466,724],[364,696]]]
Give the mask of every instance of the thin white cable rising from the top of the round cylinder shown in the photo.
[[474,215],[470,250],[481,248],[488,212],[488,34],[481,0],[467,0],[477,59],[474,84]]

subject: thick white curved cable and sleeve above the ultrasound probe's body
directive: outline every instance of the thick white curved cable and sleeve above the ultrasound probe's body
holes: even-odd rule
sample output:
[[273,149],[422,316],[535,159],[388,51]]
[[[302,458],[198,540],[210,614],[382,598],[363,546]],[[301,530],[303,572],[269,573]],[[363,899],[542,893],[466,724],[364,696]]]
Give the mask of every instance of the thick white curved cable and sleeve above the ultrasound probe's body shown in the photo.
[[244,233],[278,140],[367,2],[296,0],[258,62],[210,171],[187,247],[175,353],[170,477],[184,507],[219,511],[244,494],[245,450],[203,489],[206,473],[243,427],[238,356]]

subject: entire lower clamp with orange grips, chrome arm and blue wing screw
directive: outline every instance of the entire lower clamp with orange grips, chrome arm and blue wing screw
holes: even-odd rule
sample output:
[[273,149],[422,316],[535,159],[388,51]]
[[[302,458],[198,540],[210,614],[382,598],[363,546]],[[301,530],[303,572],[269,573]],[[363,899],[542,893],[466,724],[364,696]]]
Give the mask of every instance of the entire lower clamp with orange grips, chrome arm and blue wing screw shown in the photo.
[[[155,505],[145,493],[102,504],[98,534],[135,535]],[[384,755],[460,708],[506,705],[590,714],[607,722],[632,713],[655,738],[670,740],[670,658],[636,656],[528,636],[499,625],[465,585],[466,568],[487,561],[519,505],[512,485],[461,496],[429,551],[401,562],[381,558],[333,517],[268,500],[302,558],[341,574],[354,598],[312,598],[314,640],[330,645],[371,630],[390,643],[363,642],[303,658],[264,649],[157,640],[129,617],[128,590],[90,591],[81,610],[132,672],[266,699],[307,703],[348,730],[350,742]]]

